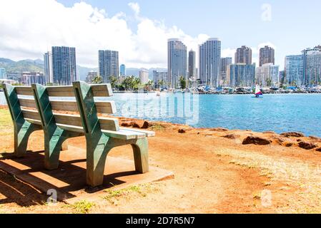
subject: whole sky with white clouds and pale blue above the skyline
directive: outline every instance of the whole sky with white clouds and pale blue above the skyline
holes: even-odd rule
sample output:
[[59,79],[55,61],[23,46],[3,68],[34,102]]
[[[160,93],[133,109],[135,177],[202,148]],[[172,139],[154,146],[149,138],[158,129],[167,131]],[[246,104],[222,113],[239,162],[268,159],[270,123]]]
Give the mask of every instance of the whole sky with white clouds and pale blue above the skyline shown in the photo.
[[305,0],[1,0],[0,57],[43,58],[51,46],[76,47],[77,64],[98,66],[98,50],[119,51],[128,67],[167,67],[167,39],[197,51],[207,38],[235,49],[275,48],[276,64],[321,44],[321,1]]

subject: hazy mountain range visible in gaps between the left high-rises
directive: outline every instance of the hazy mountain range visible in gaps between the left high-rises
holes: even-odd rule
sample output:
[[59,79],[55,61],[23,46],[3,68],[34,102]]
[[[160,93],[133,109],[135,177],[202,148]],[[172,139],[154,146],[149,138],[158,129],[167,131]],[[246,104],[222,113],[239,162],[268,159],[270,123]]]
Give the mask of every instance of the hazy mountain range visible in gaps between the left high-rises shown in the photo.
[[[9,58],[0,58],[0,68],[5,68],[6,71],[40,71],[44,72],[44,61],[41,59],[25,59],[21,61],[13,61]],[[76,66],[77,74],[81,81],[85,81],[89,71],[98,71],[98,68],[87,68],[84,66]],[[153,71],[167,71],[167,68],[150,68],[149,79],[153,78]],[[127,68],[126,74],[129,76],[139,77],[140,68]]]

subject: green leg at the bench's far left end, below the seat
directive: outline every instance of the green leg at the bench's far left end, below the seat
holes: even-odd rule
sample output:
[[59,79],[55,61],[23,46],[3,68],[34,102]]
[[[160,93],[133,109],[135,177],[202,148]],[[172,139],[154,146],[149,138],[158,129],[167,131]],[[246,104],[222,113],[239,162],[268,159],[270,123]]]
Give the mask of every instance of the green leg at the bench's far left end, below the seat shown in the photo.
[[14,130],[14,155],[16,157],[23,157],[26,155],[29,136],[34,132],[34,130],[39,129],[36,128],[35,125],[25,121],[19,129]]

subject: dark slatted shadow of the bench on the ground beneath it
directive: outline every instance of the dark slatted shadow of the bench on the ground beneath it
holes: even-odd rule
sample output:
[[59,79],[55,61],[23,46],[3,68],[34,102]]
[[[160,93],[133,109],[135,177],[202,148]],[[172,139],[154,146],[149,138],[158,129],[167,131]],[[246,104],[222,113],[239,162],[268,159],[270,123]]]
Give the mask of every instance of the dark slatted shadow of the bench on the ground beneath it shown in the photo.
[[[0,204],[9,202],[9,198],[19,198],[28,194],[37,193],[33,187],[23,184],[27,182],[36,189],[40,189],[41,192],[46,192],[49,189],[54,189],[59,195],[59,200],[71,199],[77,197],[79,192],[84,193],[94,193],[115,185],[122,185],[125,182],[117,179],[118,177],[138,175],[137,171],[126,171],[126,172],[115,172],[112,174],[104,175],[104,184],[100,187],[89,187],[86,184],[86,159],[76,159],[69,160],[67,162],[60,161],[59,168],[57,170],[45,170],[44,169],[44,151],[28,152],[24,157],[17,158],[11,153],[1,153],[0,157],[0,169],[8,172],[11,175],[6,175],[6,178],[0,178],[0,194],[7,197],[7,199],[1,200]],[[68,151],[66,151],[67,153]],[[63,152],[61,152],[63,153]],[[82,164],[82,167],[79,166]],[[108,167],[107,167],[108,168]],[[21,190],[16,189],[16,186],[12,186],[13,182],[5,180],[7,178],[14,179],[18,177],[23,182],[20,182],[27,187],[21,188],[27,192],[21,192]],[[1,175],[0,175],[1,177]],[[15,192],[15,193],[14,193]],[[39,200],[35,199],[36,202],[22,202],[21,206],[30,206],[43,201],[44,197],[39,197]],[[38,197],[36,197],[38,198]],[[16,202],[19,203],[19,202]]]

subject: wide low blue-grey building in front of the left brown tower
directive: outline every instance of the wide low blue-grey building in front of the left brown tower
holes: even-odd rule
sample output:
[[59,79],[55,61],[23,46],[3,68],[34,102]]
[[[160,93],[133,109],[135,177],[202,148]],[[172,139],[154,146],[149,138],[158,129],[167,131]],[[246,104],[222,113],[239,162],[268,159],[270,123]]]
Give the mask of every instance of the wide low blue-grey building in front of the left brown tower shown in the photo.
[[255,86],[255,63],[229,65],[227,67],[227,85],[232,88]]

